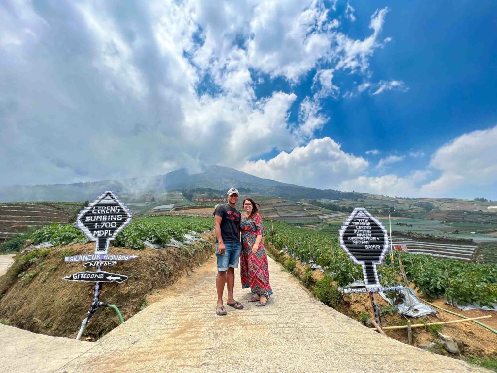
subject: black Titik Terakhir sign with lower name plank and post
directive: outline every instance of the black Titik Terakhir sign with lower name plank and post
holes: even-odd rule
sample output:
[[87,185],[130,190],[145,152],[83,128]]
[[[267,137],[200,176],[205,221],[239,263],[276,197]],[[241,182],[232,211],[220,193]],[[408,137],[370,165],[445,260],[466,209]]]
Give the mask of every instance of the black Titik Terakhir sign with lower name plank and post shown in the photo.
[[402,285],[382,287],[376,266],[379,266],[388,253],[388,233],[383,224],[365,208],[357,207],[345,220],[338,231],[340,247],[350,259],[362,266],[365,287],[345,289],[344,293],[369,293],[376,323],[381,326],[379,306],[374,293],[378,291],[401,290]]

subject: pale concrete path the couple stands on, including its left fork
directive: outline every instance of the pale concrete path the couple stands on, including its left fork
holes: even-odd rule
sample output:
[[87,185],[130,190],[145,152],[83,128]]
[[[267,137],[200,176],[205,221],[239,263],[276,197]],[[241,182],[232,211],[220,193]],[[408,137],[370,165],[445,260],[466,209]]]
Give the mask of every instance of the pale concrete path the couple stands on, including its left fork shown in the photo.
[[215,267],[211,258],[95,343],[32,333],[19,343],[28,332],[1,326],[0,339],[9,343],[2,346],[0,371],[488,372],[369,330],[310,297],[272,260],[275,294],[267,305],[247,302],[237,274],[235,297],[245,309],[227,307],[227,316],[216,316]]

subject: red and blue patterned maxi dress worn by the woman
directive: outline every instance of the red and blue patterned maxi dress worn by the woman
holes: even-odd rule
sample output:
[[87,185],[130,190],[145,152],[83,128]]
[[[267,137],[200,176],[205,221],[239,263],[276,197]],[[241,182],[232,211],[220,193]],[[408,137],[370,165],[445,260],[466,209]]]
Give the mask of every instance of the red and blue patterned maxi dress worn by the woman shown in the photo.
[[247,215],[243,214],[240,228],[242,229],[242,255],[240,255],[242,288],[250,287],[254,295],[270,295],[273,291],[269,285],[269,267],[262,241],[260,241],[257,252],[252,254],[252,247],[257,235],[260,234],[264,237],[262,218],[259,214],[255,214],[252,218],[247,219]]

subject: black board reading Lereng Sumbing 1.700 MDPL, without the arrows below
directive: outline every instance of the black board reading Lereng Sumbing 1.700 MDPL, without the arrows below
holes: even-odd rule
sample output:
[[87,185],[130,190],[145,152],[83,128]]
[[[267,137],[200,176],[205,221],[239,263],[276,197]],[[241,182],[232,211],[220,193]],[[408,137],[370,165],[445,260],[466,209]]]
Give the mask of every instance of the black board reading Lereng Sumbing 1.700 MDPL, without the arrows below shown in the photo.
[[76,227],[96,242],[95,254],[107,254],[109,242],[114,240],[127,224],[131,222],[131,212],[111,191],[80,211]]

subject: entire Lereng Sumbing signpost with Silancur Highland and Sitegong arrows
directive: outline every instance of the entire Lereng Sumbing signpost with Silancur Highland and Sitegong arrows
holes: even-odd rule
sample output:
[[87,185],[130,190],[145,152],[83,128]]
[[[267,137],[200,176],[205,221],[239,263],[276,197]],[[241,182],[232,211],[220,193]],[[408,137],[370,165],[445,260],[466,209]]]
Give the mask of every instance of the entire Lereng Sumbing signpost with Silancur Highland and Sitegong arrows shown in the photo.
[[137,258],[136,255],[108,254],[110,241],[114,240],[121,229],[130,222],[131,212],[111,191],[105,191],[78,214],[76,227],[83,231],[91,241],[95,242],[95,251],[93,255],[66,257],[65,262],[87,262],[83,266],[88,269],[94,267],[96,272],[79,272],[64,278],[64,280],[70,281],[95,282],[93,302],[81,324],[80,332],[76,337],[77,340],[81,338],[86,324],[97,308],[106,304],[99,301],[102,283],[109,281],[120,283],[128,279],[124,275],[104,272],[102,271],[102,266],[113,266],[119,260]]

